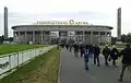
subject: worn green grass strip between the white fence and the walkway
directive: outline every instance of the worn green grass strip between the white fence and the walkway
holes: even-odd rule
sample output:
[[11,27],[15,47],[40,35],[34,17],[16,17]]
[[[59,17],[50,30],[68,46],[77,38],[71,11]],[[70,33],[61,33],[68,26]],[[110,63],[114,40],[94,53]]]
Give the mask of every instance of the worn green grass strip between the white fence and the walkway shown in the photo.
[[3,78],[0,83],[57,83],[59,59],[60,50],[53,48]]

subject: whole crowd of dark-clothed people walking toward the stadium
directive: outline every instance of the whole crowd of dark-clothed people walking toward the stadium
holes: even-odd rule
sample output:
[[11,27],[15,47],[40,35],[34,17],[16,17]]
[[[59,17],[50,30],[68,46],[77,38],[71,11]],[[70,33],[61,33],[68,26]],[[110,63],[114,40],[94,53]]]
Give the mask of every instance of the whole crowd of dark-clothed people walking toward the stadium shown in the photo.
[[[119,57],[122,57],[122,70],[120,73],[119,82],[122,82],[123,73],[126,68],[131,66],[131,48],[130,44],[126,45],[126,48],[123,48],[121,51],[118,51],[118,48],[116,46],[112,46],[110,49],[108,45],[106,45],[103,49],[98,45],[84,45],[84,44],[73,44],[73,45],[61,45],[62,48],[66,47],[67,50],[73,51],[74,57],[84,58],[85,63],[85,70],[88,70],[88,60],[90,57],[94,58],[94,64],[97,64],[97,67],[100,66],[99,63],[99,55],[102,54],[105,59],[105,66],[109,67],[109,61],[112,61],[112,66],[117,68],[116,60],[118,60]],[[102,51],[102,52],[100,52]]]

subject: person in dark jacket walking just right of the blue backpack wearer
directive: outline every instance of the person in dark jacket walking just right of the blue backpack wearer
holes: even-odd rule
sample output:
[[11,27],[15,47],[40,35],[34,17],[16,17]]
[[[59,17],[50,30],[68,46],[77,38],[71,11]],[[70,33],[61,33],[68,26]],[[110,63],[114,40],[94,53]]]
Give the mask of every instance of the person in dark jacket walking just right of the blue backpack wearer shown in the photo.
[[94,64],[96,64],[96,60],[97,60],[97,66],[99,67],[100,48],[97,45],[95,45],[94,49],[93,49],[93,52],[94,52]]

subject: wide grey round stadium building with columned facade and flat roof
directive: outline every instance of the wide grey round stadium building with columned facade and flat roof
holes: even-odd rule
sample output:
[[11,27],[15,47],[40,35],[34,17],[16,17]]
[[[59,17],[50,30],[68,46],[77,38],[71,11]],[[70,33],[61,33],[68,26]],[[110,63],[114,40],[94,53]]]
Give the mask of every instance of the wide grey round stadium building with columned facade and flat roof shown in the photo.
[[38,24],[12,26],[19,44],[111,43],[111,26],[87,24]]

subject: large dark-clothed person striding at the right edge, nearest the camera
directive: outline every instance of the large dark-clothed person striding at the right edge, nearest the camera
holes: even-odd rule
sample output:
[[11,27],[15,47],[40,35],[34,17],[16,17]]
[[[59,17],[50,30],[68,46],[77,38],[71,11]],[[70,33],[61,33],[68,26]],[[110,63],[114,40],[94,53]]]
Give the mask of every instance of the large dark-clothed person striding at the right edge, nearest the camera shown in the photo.
[[123,73],[127,67],[131,66],[131,48],[130,44],[126,45],[126,48],[121,50],[120,56],[122,56],[122,70],[120,74],[119,82],[122,82]]

